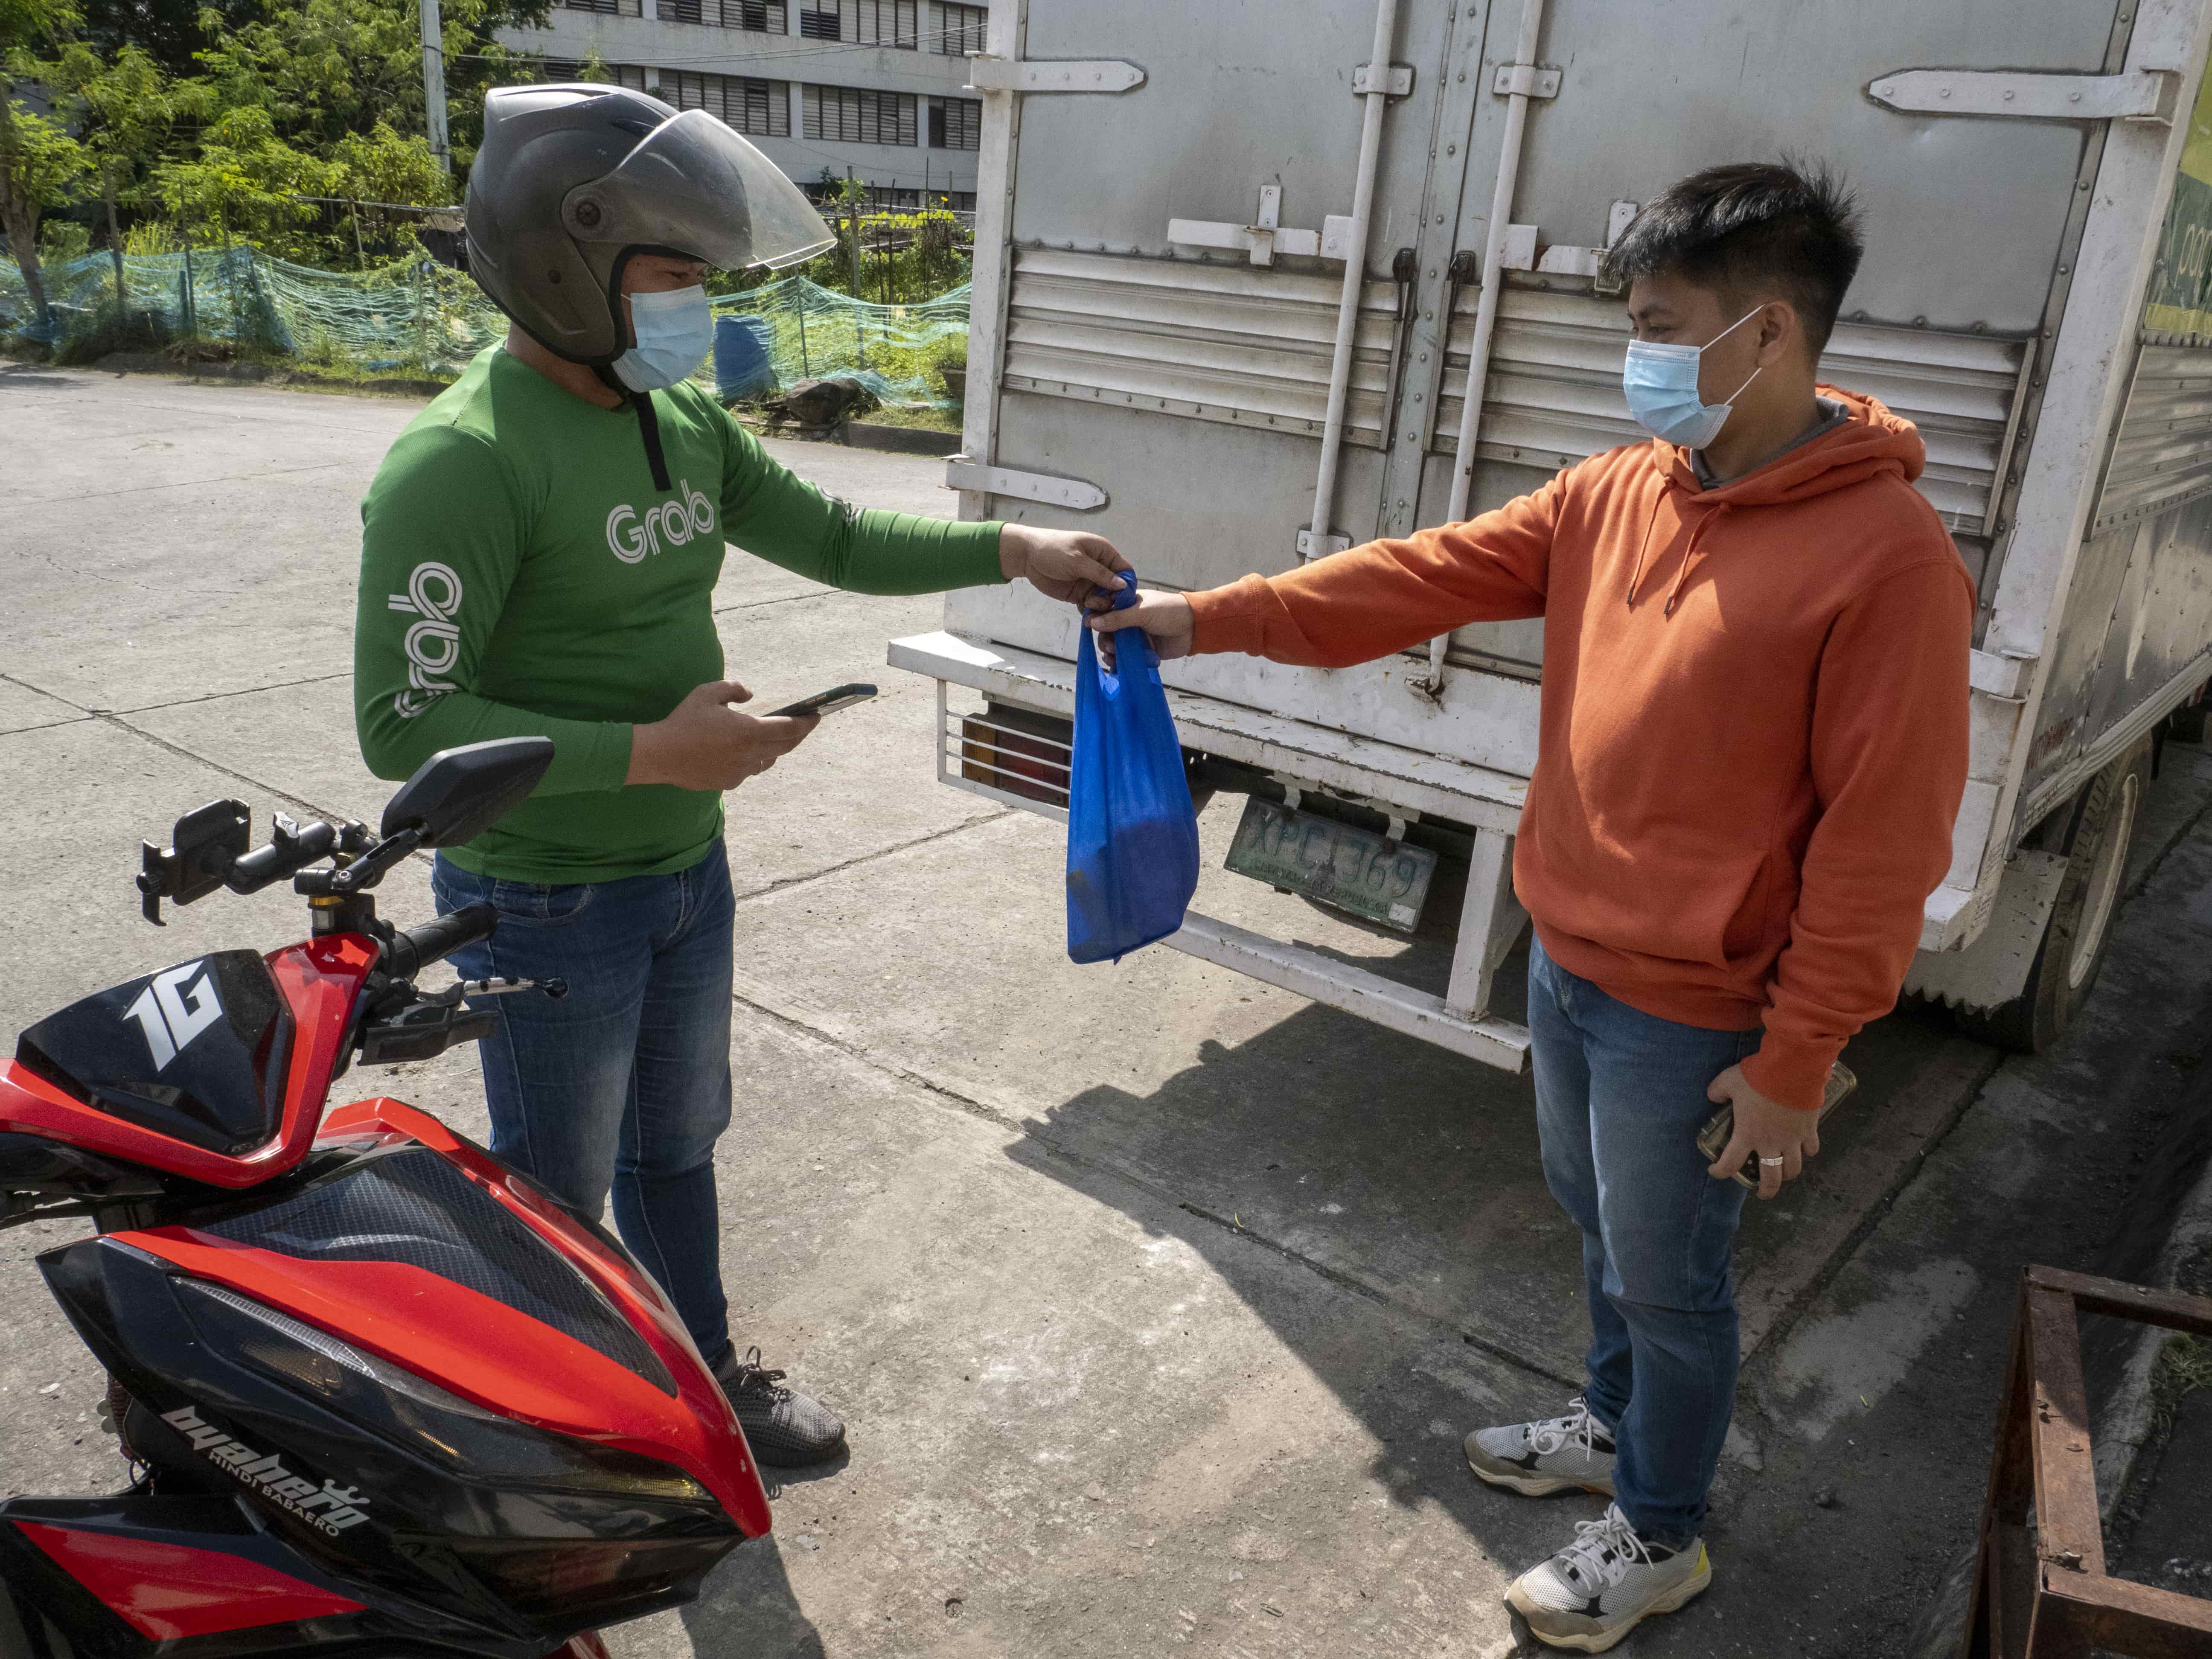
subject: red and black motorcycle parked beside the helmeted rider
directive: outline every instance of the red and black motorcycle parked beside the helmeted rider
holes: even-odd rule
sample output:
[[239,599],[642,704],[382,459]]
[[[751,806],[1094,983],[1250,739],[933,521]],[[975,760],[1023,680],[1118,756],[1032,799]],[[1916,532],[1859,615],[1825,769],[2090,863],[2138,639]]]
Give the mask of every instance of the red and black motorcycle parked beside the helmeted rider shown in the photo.
[[487,998],[566,989],[425,993],[498,914],[394,929],[372,898],[551,759],[436,754],[374,836],[279,818],[252,849],[241,803],[186,814],[146,847],[148,920],[290,878],[312,936],[84,998],[0,1068],[0,1225],[91,1217],[38,1265],[137,1471],[0,1504],[0,1659],[604,1659],[595,1630],[768,1531],[721,1387],[613,1237],[396,1099],[323,1115],[356,1055],[427,1060],[493,1029]]

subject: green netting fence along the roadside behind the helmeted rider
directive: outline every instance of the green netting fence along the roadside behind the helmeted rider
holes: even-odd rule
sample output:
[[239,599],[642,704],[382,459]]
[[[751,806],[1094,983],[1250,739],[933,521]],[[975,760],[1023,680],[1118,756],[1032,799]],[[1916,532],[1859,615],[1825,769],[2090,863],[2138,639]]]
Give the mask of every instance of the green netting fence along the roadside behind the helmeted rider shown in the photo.
[[[239,352],[369,374],[449,378],[507,336],[507,319],[458,270],[431,259],[334,272],[259,248],[126,254],[122,334],[208,341]],[[95,252],[42,268],[53,321],[29,305],[22,272],[0,259],[0,334],[62,347],[117,332],[115,263]],[[719,316],[757,316],[776,380],[852,376],[885,403],[942,407],[940,367],[964,352],[969,290],[918,305],[869,305],[785,276],[714,301]],[[701,369],[712,378],[712,363]]]

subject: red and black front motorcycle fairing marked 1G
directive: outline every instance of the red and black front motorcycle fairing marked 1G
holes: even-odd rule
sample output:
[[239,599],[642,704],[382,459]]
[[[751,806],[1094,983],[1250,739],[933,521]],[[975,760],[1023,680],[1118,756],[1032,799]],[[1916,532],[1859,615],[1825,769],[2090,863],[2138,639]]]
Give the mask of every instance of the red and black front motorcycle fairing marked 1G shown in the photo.
[[[270,1181],[299,1164],[314,1139],[323,1097],[330,1093],[332,1073],[345,1051],[354,1002],[369,971],[376,967],[376,956],[378,947],[372,938],[361,933],[325,933],[323,938],[272,951],[265,958],[268,971],[283,998],[283,1011],[292,1024],[288,1037],[290,1060],[283,1064],[283,1102],[274,1121],[257,1144],[243,1150],[215,1150],[212,1146],[195,1144],[184,1133],[164,1133],[155,1126],[161,1121],[157,1113],[142,1113],[139,1121],[117,1117],[88,1099],[80,1099],[64,1084],[38,1075],[22,1060],[0,1066],[0,1130],[44,1135],[69,1146],[128,1159],[166,1175],[181,1175],[219,1188],[237,1190]],[[177,989],[188,1015],[197,1015],[204,1006],[188,998],[197,984],[197,978],[188,978]],[[102,1000],[88,998],[86,1002],[100,1004]],[[75,1013],[84,1006],[77,1004],[75,1009],[64,1009],[64,1013]],[[44,1026],[33,1026],[33,1031],[40,1029]],[[139,1022],[133,1020],[119,1033],[119,1040],[139,1031]],[[181,1066],[190,1048],[210,1040],[212,1033],[197,1035],[195,1042],[179,1046],[173,1064]],[[170,1031],[170,1042],[175,1042],[175,1031]],[[179,1126],[175,1119],[170,1124],[173,1128]],[[208,1133],[201,1135],[201,1139],[208,1137]],[[237,1146],[237,1137],[226,1144]]]

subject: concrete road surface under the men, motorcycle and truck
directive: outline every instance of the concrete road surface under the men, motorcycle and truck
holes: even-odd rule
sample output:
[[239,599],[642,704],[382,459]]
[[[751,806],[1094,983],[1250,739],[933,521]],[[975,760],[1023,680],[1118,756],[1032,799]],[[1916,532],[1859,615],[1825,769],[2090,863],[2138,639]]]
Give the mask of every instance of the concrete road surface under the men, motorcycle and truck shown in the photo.
[[[139,841],[208,799],[369,818],[358,500],[418,405],[0,365],[0,1029],[305,931],[299,900],[137,918]],[[863,504],[940,462],[776,445]],[[1133,549],[1141,560],[1141,551]],[[1597,1513],[1482,1489],[1460,1436],[1577,1376],[1575,1241],[1528,1084],[1172,951],[1071,967],[1060,830],[933,781],[931,599],[730,553],[730,672],[885,697],[728,801],[732,1314],[852,1422],[776,1533],[617,1655],[1504,1655],[1506,1582]],[[1851,1048],[1812,1177],[1754,1206],[1717,1579],[1641,1655],[1893,1652],[1971,1540],[2013,1274],[2097,1267],[2212,1048],[2212,765],[2170,750],[2090,1011],[2039,1062],[1940,1013]],[[1219,849],[1232,803],[1206,816]],[[420,867],[385,911],[427,914]],[[1208,914],[1407,975],[1212,869]],[[1400,958],[1400,960],[1391,960]],[[471,1055],[358,1079],[484,1130]],[[0,1493],[106,1491],[100,1378],[0,1237]]]

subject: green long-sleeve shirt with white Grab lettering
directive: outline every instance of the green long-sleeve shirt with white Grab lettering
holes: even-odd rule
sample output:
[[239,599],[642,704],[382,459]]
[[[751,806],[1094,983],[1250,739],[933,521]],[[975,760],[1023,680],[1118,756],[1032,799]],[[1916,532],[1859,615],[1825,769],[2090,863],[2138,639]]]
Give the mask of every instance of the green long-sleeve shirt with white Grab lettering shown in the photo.
[[361,504],[354,726],[383,779],[491,737],[551,737],[538,792],[453,863],[529,883],[684,869],[721,796],[626,787],[630,728],[723,677],[723,542],[854,593],[1000,582],[998,524],[858,511],[768,458],[697,385],[599,409],[491,347],[400,434]]

